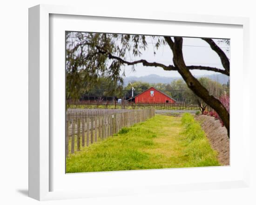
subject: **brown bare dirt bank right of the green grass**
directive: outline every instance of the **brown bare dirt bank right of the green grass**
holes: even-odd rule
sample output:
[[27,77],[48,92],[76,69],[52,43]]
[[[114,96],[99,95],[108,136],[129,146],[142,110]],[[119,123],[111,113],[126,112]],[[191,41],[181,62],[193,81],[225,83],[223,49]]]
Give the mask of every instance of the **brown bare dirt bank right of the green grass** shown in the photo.
[[195,119],[201,122],[209,142],[218,154],[219,162],[222,165],[229,165],[229,137],[227,129],[222,127],[219,120],[208,115],[195,115]]

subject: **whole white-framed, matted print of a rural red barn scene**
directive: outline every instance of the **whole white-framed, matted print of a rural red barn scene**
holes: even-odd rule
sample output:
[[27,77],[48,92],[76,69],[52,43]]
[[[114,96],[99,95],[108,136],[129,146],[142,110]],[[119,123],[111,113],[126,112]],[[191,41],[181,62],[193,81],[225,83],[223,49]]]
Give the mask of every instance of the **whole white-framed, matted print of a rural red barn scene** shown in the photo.
[[30,8],[29,196],[248,186],[248,26]]

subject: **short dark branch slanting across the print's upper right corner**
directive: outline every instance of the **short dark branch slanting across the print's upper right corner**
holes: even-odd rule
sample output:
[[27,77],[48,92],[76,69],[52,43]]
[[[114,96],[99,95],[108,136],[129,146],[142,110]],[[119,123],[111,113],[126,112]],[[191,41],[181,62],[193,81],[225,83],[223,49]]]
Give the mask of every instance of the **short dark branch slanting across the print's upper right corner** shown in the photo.
[[216,45],[216,43],[211,38],[202,38],[202,39],[206,41],[210,45],[211,49],[218,54],[218,56],[221,58],[221,62],[224,69],[229,74],[229,58],[226,56],[226,54],[222,51],[222,49],[218,45]]

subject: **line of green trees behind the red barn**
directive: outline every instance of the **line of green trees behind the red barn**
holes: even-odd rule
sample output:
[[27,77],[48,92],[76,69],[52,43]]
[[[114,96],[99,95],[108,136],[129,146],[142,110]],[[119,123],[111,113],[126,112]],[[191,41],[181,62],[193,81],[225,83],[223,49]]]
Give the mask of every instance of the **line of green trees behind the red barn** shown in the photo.
[[[229,96],[229,82],[226,84],[218,83],[208,77],[198,78],[199,82],[209,91],[209,94],[220,99],[221,96]],[[94,88],[84,92],[82,96],[115,96],[117,98],[129,99],[132,97],[132,87],[134,88],[134,96],[140,94],[144,90],[148,90],[150,87],[154,87],[157,90],[162,91],[166,95],[174,98],[177,102],[183,102],[187,104],[196,104],[203,112],[207,104],[195,93],[190,90],[187,84],[182,79],[177,79],[171,83],[147,83],[141,81],[133,81],[126,86],[117,85],[112,83],[108,79],[99,78],[98,83]],[[85,91],[86,89],[82,89]]]

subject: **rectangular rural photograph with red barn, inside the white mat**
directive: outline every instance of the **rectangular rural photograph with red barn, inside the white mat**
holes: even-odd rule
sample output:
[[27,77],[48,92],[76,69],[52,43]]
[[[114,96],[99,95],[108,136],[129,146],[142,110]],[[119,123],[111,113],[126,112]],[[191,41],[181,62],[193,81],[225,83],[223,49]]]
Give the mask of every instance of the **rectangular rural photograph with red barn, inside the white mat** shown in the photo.
[[230,39],[65,37],[66,173],[229,166]]

